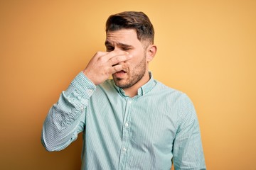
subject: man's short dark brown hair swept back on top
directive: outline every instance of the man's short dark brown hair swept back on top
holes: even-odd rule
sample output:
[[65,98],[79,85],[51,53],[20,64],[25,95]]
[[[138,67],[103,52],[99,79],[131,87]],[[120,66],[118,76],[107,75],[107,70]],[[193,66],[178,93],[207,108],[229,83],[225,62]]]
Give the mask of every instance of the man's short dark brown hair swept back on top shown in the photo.
[[146,40],[154,43],[154,27],[143,12],[126,11],[111,15],[107,18],[106,33],[107,31],[115,31],[121,29],[135,29],[137,38],[141,42]]

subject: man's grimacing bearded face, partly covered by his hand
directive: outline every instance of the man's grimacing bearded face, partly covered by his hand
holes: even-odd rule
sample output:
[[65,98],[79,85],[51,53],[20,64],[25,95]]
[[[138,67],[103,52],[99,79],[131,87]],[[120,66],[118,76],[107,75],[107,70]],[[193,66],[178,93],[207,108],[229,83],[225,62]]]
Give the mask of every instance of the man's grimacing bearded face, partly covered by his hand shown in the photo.
[[127,61],[129,66],[126,69],[112,74],[114,83],[117,86],[127,89],[140,81],[144,81],[146,72],[148,72],[146,52],[144,45],[137,38],[136,30],[108,31],[105,46],[107,52],[124,50],[129,52],[129,55],[132,55],[132,59]]

